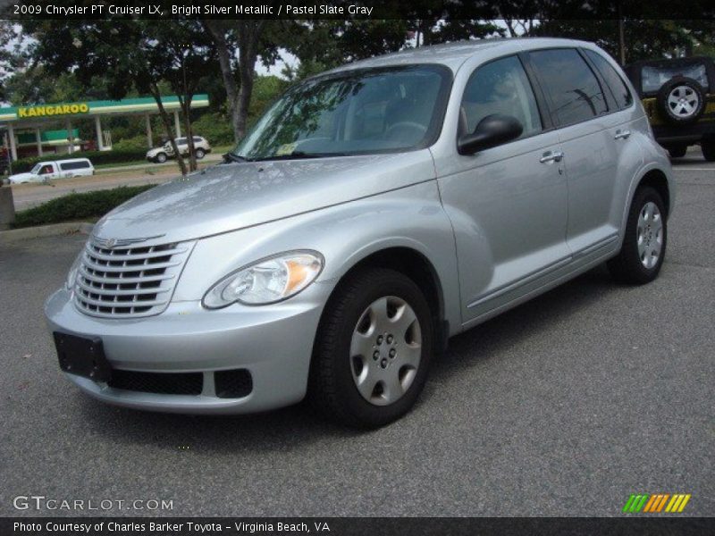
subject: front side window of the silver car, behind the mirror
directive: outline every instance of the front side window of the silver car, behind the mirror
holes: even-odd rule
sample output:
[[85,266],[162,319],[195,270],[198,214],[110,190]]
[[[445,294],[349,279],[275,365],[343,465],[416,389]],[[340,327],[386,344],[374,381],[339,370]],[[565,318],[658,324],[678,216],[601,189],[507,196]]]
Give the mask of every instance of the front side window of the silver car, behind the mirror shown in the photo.
[[542,130],[542,121],[526,71],[516,56],[479,67],[467,82],[462,97],[463,129],[475,131],[492,113],[516,117],[524,127],[522,138]]

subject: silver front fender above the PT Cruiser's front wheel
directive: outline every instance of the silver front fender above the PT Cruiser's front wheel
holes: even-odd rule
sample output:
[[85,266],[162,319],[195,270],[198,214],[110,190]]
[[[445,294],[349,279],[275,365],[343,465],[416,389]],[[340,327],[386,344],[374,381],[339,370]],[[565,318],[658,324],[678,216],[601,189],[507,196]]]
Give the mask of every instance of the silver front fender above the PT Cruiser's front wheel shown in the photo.
[[[442,287],[443,320],[450,322],[451,334],[461,330],[454,235],[435,180],[200,239],[172,301],[200,300],[227,273],[267,255],[297,249],[324,255],[324,269],[315,284],[332,292],[352,267],[391,247],[408,247],[429,261]],[[293,299],[300,295],[285,303]]]

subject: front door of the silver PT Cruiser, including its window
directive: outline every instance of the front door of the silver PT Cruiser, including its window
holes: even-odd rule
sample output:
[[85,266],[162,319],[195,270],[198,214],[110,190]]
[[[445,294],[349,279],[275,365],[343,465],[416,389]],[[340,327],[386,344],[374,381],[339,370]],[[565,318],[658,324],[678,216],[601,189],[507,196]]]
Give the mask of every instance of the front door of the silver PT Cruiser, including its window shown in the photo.
[[567,186],[555,130],[544,131],[519,58],[478,67],[467,82],[460,130],[504,113],[524,127],[520,138],[456,155],[458,172],[439,179],[457,241],[464,322],[506,306],[568,264]]

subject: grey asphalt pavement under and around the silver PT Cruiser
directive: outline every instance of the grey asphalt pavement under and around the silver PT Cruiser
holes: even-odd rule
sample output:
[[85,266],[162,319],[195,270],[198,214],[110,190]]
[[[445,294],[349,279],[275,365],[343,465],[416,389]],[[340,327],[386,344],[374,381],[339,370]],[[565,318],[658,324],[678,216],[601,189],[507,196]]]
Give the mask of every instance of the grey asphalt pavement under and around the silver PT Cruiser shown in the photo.
[[[115,515],[715,515],[715,165],[677,162],[660,278],[602,269],[452,339],[416,409],[368,433],[302,406],[190,417],[100,405],[42,316],[84,237],[0,246],[0,515],[19,495],[171,499]],[[86,512],[97,514],[97,512]]]

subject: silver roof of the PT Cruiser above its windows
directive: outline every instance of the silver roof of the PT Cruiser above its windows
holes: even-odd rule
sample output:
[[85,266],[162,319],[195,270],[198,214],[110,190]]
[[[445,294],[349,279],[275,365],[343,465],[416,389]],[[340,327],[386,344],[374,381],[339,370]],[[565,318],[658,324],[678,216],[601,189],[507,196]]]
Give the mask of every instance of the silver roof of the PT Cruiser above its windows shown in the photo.
[[358,60],[357,62],[342,65],[337,69],[326,71],[324,74],[338,73],[341,71],[350,71],[352,69],[369,69],[373,67],[389,67],[392,65],[410,65],[415,63],[437,63],[442,64],[451,69],[458,71],[462,63],[468,58],[476,54],[492,54],[495,48],[504,48],[505,52],[533,50],[547,47],[560,46],[585,46],[595,48],[593,43],[580,41],[576,39],[564,38],[487,38],[487,39],[467,39],[463,41],[455,41],[453,43],[445,43],[442,45],[419,46],[417,48],[407,48],[400,52],[384,54],[369,58],[366,60]]

